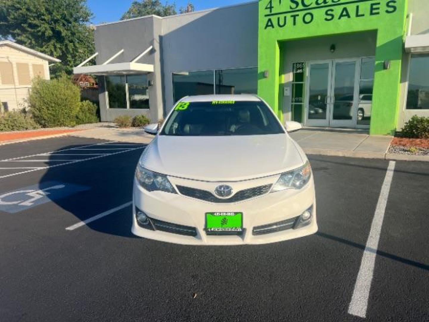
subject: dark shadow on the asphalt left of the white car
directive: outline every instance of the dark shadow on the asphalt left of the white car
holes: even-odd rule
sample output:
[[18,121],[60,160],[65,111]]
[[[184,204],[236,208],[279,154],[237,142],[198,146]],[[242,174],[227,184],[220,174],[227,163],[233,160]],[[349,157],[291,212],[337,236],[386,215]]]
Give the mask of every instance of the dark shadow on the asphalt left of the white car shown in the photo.
[[[58,191],[49,191],[46,197],[64,211],[61,213],[65,218],[69,217],[69,214],[75,216],[73,221],[64,221],[69,222],[68,226],[88,220],[132,200],[135,168],[145,145],[130,146],[130,150],[125,152],[121,149],[125,147],[124,144],[129,143],[118,143],[109,147],[106,145],[64,146],[44,155],[47,160],[45,166],[49,167],[44,170],[45,173],[39,185],[45,188],[60,187],[57,188]],[[102,149],[104,147],[106,150]],[[109,155],[102,155],[104,153]],[[61,193],[61,189],[65,193]],[[102,216],[85,226],[76,230],[91,228],[105,234],[134,237],[131,234],[131,206]]]

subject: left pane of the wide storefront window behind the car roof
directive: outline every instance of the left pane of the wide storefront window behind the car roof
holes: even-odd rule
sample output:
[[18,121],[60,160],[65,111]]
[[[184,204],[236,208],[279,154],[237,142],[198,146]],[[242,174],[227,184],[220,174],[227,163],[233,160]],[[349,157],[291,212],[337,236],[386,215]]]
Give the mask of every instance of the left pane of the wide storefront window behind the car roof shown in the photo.
[[177,102],[189,95],[213,94],[214,70],[173,73],[173,98]]

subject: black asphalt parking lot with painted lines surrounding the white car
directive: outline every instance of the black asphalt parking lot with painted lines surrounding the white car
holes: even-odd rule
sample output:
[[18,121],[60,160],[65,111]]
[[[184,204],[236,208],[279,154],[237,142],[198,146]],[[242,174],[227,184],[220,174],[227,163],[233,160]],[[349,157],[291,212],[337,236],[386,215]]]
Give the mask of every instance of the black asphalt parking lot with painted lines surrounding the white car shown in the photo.
[[429,321],[428,163],[310,156],[317,234],[180,246],[130,233],[144,147],[0,147],[0,321]]

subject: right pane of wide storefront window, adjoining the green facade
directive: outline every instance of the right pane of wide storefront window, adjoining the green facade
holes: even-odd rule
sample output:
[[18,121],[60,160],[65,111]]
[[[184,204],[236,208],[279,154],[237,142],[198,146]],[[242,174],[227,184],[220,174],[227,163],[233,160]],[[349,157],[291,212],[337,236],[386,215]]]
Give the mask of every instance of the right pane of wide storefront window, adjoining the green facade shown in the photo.
[[258,69],[216,70],[215,94],[257,94]]

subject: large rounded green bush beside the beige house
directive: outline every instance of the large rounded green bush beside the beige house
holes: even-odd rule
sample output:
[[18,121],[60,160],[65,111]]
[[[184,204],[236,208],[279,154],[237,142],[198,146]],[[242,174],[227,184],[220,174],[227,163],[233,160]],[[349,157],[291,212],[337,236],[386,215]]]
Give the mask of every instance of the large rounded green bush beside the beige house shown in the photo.
[[80,89],[67,77],[45,80],[37,77],[29,98],[34,120],[44,128],[75,126],[80,107]]

